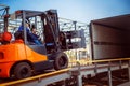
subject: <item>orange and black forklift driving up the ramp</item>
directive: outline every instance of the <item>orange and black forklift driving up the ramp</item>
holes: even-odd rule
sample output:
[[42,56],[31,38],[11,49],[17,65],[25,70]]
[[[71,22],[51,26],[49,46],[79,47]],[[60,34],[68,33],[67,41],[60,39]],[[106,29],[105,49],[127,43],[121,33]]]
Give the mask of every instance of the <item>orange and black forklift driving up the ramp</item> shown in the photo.
[[[73,46],[67,45],[65,32],[60,31],[56,10],[18,10],[14,15],[24,28],[20,33],[9,32],[8,23],[11,15],[4,15],[4,28],[0,40],[0,77],[20,80],[31,76],[36,71],[53,68],[61,70],[68,67],[68,58],[64,51]],[[30,28],[31,24],[36,26],[41,44],[28,40],[26,20],[29,22]]]

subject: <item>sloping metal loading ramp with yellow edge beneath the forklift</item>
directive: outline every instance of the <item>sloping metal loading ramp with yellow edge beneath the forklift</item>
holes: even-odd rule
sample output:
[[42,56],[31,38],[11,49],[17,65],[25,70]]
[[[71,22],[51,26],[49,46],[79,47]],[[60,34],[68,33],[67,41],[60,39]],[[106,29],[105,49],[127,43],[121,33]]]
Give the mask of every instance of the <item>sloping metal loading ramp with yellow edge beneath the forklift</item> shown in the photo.
[[107,72],[108,86],[113,86],[112,71],[119,69],[128,69],[128,75],[130,81],[130,58],[122,59],[109,59],[109,60],[96,60],[92,61],[90,66],[81,66],[80,61],[76,66],[36,75],[32,77],[1,83],[0,86],[50,86],[58,82],[60,86],[82,86],[82,77],[88,75],[96,75],[99,73]]

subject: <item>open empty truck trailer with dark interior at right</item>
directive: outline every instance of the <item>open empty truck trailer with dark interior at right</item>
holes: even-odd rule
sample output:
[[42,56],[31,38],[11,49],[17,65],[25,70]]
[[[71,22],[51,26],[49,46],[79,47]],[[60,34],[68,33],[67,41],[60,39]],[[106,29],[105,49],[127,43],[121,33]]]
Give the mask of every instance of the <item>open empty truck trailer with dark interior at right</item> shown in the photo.
[[130,14],[90,23],[93,60],[130,57]]

